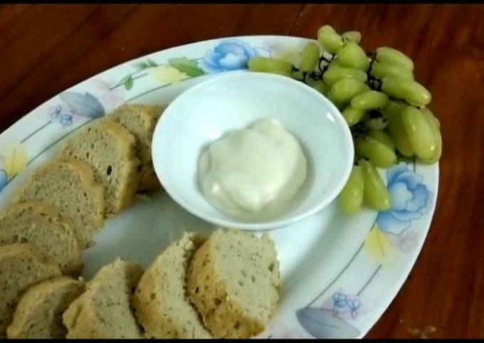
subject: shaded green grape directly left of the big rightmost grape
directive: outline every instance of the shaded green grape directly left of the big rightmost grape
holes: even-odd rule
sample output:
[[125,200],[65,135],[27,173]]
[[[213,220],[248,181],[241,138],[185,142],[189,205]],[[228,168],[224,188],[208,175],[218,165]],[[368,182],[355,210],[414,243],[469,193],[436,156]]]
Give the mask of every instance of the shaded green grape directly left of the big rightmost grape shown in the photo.
[[411,157],[414,154],[414,148],[411,147],[409,137],[405,132],[404,123],[401,121],[401,111],[405,105],[399,102],[389,101],[382,112],[385,113],[388,119],[386,130],[390,137],[394,140],[396,149],[405,157]]

